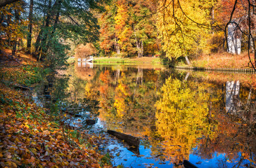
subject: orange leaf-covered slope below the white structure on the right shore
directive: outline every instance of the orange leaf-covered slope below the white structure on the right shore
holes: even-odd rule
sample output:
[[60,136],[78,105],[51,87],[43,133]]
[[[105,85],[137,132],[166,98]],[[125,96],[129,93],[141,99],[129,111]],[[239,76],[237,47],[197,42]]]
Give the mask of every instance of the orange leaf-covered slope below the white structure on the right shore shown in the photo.
[[[191,60],[190,66],[210,67],[210,68],[233,68],[233,69],[250,69],[248,64],[248,52],[243,52],[241,55],[231,55],[228,52],[215,53],[211,55],[202,55]],[[184,62],[178,66],[188,66]]]

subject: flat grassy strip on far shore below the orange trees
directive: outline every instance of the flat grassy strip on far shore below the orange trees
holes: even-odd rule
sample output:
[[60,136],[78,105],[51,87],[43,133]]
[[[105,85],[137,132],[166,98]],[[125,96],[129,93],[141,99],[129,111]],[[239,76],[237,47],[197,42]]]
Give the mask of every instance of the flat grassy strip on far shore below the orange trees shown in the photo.
[[159,57],[96,57],[94,59],[96,64],[161,64]]

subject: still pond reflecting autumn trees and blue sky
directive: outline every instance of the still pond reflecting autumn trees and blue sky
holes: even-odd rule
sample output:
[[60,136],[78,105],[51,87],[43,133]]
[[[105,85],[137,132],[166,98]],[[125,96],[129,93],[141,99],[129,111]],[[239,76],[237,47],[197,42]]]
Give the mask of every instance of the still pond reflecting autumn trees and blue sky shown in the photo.
[[[97,122],[84,129],[103,134],[99,149],[113,166],[256,167],[255,74],[75,64],[66,75],[52,94],[86,105],[82,113]],[[106,130],[140,144],[131,148]]]

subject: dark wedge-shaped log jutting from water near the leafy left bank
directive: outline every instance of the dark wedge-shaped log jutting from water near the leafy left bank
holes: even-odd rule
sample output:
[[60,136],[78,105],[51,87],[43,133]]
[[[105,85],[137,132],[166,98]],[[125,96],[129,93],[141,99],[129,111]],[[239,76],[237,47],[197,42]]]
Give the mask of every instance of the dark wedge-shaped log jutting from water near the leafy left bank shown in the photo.
[[139,146],[139,138],[133,137],[132,135],[115,132],[113,130],[108,130],[108,134],[112,134],[117,137],[117,139],[124,140],[129,146],[134,146],[135,148],[138,148]]

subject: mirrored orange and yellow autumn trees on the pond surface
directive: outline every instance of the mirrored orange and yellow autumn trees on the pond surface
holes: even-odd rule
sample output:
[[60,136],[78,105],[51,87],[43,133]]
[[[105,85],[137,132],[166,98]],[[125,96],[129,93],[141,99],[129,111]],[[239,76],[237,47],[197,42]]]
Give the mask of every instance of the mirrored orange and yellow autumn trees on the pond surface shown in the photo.
[[[219,167],[255,165],[255,93],[243,80],[209,82],[198,73],[130,66],[89,71],[84,100],[98,102],[94,112],[106,129],[141,137],[155,160],[179,165],[192,155],[210,160],[223,154]],[[229,92],[233,85],[237,90]],[[236,113],[226,113],[231,106]]]

